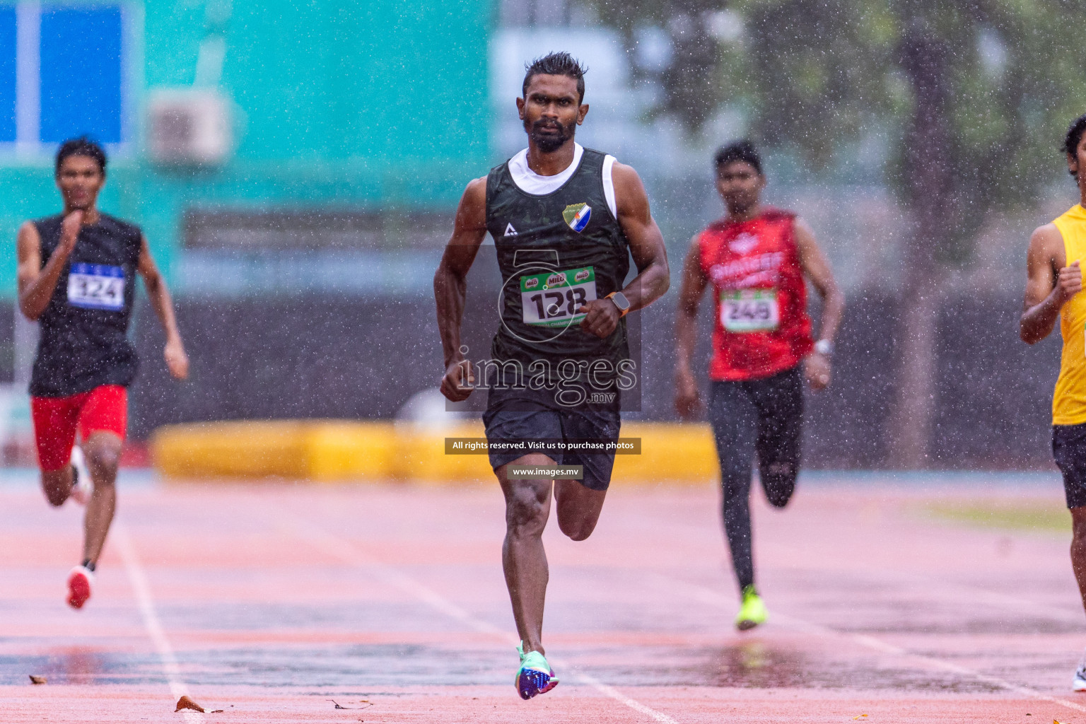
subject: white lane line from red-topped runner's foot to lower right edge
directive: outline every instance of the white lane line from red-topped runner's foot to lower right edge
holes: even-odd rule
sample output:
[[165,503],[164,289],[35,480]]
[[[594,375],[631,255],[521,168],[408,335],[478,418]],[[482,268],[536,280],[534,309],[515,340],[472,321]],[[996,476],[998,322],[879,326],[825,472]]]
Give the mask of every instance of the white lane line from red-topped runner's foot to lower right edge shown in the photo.
[[[703,586],[697,583],[690,583],[686,581],[680,581],[678,579],[672,579],[670,576],[661,575],[658,573],[649,574],[647,577],[655,579],[659,584],[665,585],[668,590],[672,593],[678,593],[685,595],[687,598],[697,600],[703,604],[707,604],[712,607],[728,607],[734,606],[735,601],[733,598],[724,596],[723,594],[714,590],[707,586]],[[1008,691],[1013,691],[1015,694],[1030,697],[1032,699],[1040,699],[1041,701],[1048,701],[1050,703],[1056,703],[1061,707],[1066,707],[1068,709],[1073,709],[1075,711],[1086,712],[1086,707],[1075,703],[1074,701],[1068,701],[1066,699],[1058,699],[1056,697],[1048,696],[1037,689],[1030,688],[1027,686],[1021,686],[1019,684],[1013,684],[1006,679],[999,678],[998,676],[990,676],[988,674],[981,673],[973,669],[967,669],[965,666],[951,663],[949,661],[944,661],[943,659],[937,659],[931,656],[924,656],[922,653],[913,653],[908,649],[904,649],[899,646],[888,644],[880,638],[870,636],[868,634],[849,634],[843,631],[836,631],[828,626],[822,626],[817,623],[811,623],[809,621],[804,621],[803,619],[797,619],[792,615],[780,613],[778,611],[773,612],[773,618],[783,623],[788,628],[795,631],[800,631],[804,633],[812,634],[816,636],[822,636],[824,638],[836,638],[850,640],[854,644],[858,644],[869,649],[880,651],[882,653],[888,653],[891,656],[896,656],[905,659],[911,659],[915,662],[923,663],[926,666],[942,669],[960,676],[965,676],[968,678],[973,678],[985,684],[990,684],[999,688],[1006,689]]]

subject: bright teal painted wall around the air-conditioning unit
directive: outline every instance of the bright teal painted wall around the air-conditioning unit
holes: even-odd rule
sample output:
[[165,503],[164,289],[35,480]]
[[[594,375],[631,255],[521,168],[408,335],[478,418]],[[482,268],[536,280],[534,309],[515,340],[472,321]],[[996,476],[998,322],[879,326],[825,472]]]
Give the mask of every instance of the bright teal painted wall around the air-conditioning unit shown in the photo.
[[[137,107],[189,86],[205,2],[146,0]],[[111,161],[101,207],[141,224],[168,272],[185,208],[449,207],[485,173],[491,0],[233,0],[220,90],[238,110],[235,156],[168,170],[141,143]],[[142,113],[136,118],[142,131]],[[47,150],[51,151],[51,150]],[[58,211],[51,157],[0,155],[0,294],[14,291],[18,224]]]

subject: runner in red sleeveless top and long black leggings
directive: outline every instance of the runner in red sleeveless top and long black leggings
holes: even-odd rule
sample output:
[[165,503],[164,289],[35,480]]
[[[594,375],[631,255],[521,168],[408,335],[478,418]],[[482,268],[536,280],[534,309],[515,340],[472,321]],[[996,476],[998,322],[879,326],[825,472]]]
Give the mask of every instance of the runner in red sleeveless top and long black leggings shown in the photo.
[[[683,265],[675,320],[675,408],[700,407],[691,358],[697,307],[706,287],[716,303],[708,406],[720,457],[724,532],[738,580],[741,630],[766,621],[754,585],[750,545],[752,461],[758,459],[766,497],[787,505],[799,471],[804,363],[815,390],[830,383],[833,336],[844,296],[815,236],[795,214],[760,203],[766,177],[748,141],[717,152],[717,190],[728,215],[694,237]],[[811,340],[805,278],[822,296],[822,335]]]

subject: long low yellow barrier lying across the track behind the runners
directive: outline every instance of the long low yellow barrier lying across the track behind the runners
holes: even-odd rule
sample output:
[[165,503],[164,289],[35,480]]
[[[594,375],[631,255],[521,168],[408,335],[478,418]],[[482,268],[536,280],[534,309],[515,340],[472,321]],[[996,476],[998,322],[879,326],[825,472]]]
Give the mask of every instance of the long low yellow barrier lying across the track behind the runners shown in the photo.
[[[270,420],[176,424],[151,440],[174,480],[287,478],[315,482],[490,483],[487,455],[446,455],[445,437],[483,437],[482,422],[417,427],[389,421]],[[640,455],[616,455],[613,484],[708,484],[719,479],[707,424],[628,422]]]

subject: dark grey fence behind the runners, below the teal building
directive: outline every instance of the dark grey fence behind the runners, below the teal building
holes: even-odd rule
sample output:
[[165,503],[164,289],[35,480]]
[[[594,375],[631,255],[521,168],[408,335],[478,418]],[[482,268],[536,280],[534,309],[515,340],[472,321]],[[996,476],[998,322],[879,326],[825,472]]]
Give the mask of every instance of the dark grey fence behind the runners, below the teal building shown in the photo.
[[[1018,290],[944,304],[930,467],[1051,465],[1049,405],[1060,345],[1055,338],[1034,347],[1020,342],[1020,305]],[[673,297],[643,313],[642,412],[628,419],[675,419],[672,315]],[[195,420],[392,417],[442,373],[430,300],[186,299],[178,302],[178,316],[192,357],[192,379],[184,384],[167,378],[161,331],[150,310],[141,310],[135,437],[160,424]],[[893,297],[851,294],[834,383],[808,398],[808,466],[886,465],[897,320]],[[706,309],[697,352],[703,369],[710,321]]]

